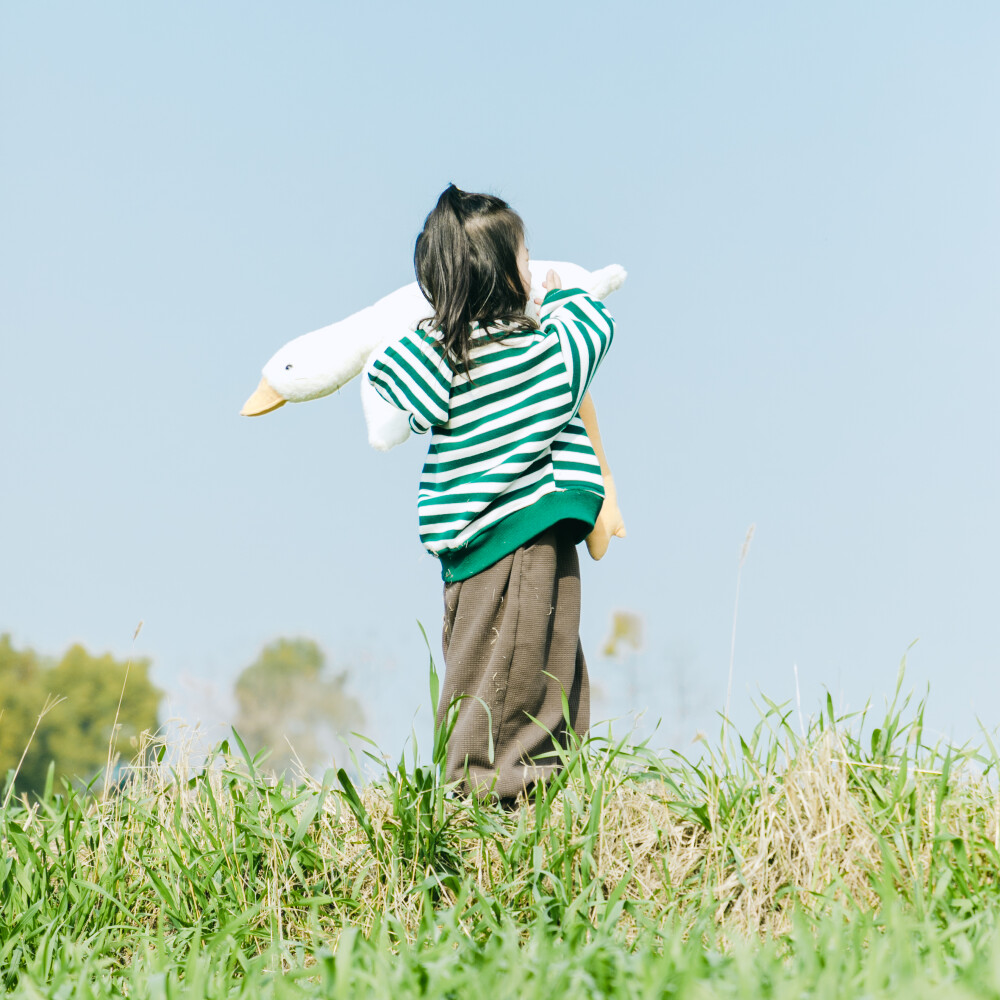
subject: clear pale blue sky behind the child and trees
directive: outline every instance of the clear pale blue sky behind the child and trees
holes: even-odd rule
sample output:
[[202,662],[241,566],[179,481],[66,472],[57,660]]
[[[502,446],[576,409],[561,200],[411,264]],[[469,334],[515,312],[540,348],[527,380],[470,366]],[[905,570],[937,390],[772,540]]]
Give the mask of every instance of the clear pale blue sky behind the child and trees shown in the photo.
[[[412,280],[454,181],[629,271],[594,385],[629,538],[584,554],[598,717],[931,686],[1000,722],[1000,7],[0,5],[0,631],[226,715],[266,641],[426,732],[426,442],[357,386],[239,417],[287,340]],[[631,660],[600,654],[615,609]],[[418,712],[418,710],[420,710]]]

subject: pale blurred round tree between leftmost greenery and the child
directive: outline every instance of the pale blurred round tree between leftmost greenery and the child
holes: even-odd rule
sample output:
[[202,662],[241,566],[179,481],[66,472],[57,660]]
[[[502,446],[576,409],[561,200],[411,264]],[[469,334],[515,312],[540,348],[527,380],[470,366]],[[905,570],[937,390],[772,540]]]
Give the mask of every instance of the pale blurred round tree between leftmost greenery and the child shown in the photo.
[[272,751],[267,764],[275,772],[296,757],[310,771],[331,765],[346,754],[347,734],[364,722],[346,691],[347,672],[330,676],[324,666],[311,639],[278,639],[236,679],[234,727],[251,753]]

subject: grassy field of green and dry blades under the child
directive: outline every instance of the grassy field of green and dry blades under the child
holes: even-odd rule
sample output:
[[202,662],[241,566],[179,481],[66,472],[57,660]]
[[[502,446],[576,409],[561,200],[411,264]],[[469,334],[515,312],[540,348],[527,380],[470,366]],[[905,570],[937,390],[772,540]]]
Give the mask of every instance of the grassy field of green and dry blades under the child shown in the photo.
[[0,976],[15,997],[1000,996],[1000,758],[928,746],[922,720],[828,703],[801,732],[769,705],[686,756],[593,737],[510,812],[449,795],[443,734],[363,788],[275,781],[238,737],[197,766],[153,744],[113,793],[5,793]]

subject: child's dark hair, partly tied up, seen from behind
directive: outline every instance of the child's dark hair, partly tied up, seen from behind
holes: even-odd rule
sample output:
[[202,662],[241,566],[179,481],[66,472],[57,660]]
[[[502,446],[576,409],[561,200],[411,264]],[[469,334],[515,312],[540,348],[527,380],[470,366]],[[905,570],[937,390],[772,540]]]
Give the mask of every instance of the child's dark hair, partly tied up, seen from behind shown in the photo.
[[507,202],[472,194],[449,184],[413,249],[413,268],[424,297],[434,307],[428,320],[443,335],[452,371],[469,374],[472,324],[502,323],[511,330],[534,330],[525,315],[528,296],[517,254],[524,223]]

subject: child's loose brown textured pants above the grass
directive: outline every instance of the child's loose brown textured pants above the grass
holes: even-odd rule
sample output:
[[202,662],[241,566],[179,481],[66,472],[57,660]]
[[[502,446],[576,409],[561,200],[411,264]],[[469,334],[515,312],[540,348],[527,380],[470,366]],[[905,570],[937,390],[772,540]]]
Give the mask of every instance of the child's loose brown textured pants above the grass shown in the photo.
[[582,737],[590,726],[580,561],[560,525],[445,585],[442,645],[438,725],[461,699],[447,778],[480,798],[513,800],[559,768],[544,755],[568,745],[564,696],[573,732]]

